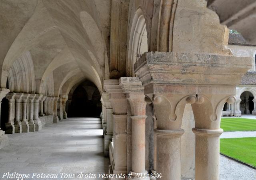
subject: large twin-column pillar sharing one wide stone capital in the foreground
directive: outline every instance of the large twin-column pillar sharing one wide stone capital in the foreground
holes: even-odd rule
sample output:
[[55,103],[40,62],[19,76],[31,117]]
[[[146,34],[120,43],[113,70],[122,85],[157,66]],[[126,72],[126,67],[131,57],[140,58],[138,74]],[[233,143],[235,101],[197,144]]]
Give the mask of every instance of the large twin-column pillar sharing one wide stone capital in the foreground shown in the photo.
[[[223,106],[226,101],[234,102],[234,97],[229,97],[236,94],[236,85],[250,64],[250,58],[180,52],[145,52],[134,64],[145,95],[152,98],[157,119],[156,172],[162,177],[156,180],[181,178],[180,137],[184,133],[181,124],[185,105],[192,104],[194,132],[214,130],[213,134],[219,135]],[[196,138],[195,179],[218,180],[219,144],[217,140],[205,140],[200,144]]]

